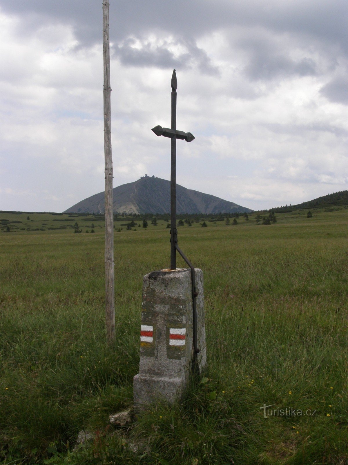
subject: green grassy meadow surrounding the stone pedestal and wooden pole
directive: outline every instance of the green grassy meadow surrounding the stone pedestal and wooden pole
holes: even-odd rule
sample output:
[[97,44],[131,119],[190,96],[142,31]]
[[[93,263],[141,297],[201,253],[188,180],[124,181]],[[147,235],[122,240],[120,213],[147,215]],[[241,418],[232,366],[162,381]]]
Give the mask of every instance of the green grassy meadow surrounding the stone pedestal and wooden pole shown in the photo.
[[[348,464],[348,208],[312,213],[178,226],[204,272],[208,368],[122,431],[108,417],[132,405],[142,277],[169,266],[167,223],[115,222],[108,347],[103,221],[0,213],[0,463]],[[96,439],[72,452],[83,429]]]

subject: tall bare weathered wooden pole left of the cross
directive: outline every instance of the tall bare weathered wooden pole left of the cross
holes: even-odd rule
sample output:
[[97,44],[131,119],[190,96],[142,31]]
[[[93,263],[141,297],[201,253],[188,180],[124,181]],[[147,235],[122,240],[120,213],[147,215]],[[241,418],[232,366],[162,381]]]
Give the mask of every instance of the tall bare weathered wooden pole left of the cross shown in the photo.
[[114,212],[112,199],[109,0],[103,0],[104,156],[105,156],[105,317],[106,339],[115,339]]

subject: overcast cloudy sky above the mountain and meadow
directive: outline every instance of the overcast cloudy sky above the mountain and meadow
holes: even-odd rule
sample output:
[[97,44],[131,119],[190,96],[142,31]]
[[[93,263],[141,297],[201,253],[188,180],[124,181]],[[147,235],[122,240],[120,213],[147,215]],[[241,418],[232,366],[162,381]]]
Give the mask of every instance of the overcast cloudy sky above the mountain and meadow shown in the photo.
[[[0,210],[104,189],[102,0],[0,0]],[[114,187],[170,179],[258,210],[348,189],[347,0],[110,0]]]

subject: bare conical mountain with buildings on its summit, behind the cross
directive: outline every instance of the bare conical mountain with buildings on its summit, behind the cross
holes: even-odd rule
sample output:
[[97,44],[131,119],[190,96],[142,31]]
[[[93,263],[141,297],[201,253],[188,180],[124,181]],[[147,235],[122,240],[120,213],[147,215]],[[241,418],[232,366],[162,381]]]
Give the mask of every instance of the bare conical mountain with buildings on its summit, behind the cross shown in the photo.
[[[144,176],[135,182],[113,189],[114,213],[169,213],[170,181]],[[176,185],[177,213],[244,213],[250,208],[214,195]],[[71,206],[64,213],[104,213],[104,192],[92,195]]]

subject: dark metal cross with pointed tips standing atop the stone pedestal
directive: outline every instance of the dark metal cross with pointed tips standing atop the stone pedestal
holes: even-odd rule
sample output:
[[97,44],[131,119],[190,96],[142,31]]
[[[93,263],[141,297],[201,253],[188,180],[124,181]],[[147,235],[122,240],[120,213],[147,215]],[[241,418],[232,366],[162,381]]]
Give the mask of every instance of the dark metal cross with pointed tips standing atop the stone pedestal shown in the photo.
[[171,139],[171,169],[170,169],[170,269],[176,270],[176,250],[178,243],[178,230],[176,229],[176,140],[186,140],[191,142],[194,136],[191,133],[184,133],[176,130],[176,80],[175,69],[172,75],[172,122],[171,128],[155,126],[152,131],[156,136],[169,137]]

